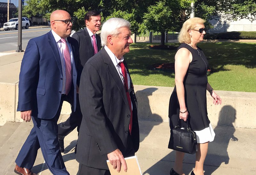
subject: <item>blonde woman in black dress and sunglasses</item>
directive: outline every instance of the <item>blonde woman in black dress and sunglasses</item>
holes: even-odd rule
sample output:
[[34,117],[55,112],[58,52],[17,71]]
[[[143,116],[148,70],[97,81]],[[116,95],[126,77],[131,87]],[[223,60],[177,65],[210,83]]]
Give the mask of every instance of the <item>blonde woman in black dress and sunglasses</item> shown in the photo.
[[[214,139],[214,131],[207,116],[206,90],[213,98],[213,104],[221,104],[221,98],[214,92],[207,80],[208,61],[203,51],[196,46],[203,40],[204,19],[190,18],[182,26],[178,41],[181,43],[175,55],[175,87],[169,104],[170,128],[179,120],[190,121],[197,135],[196,166],[191,175],[203,175],[204,159],[208,143]],[[182,170],[183,152],[176,151],[175,165],[170,175],[185,175]]]

